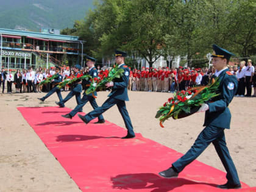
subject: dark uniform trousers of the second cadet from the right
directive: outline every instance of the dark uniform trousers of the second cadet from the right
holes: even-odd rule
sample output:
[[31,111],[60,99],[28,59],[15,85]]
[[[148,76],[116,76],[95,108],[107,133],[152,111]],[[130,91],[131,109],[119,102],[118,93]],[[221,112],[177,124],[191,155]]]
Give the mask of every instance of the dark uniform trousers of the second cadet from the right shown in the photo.
[[95,108],[93,111],[85,115],[85,119],[87,119],[87,121],[90,122],[94,118],[98,117],[99,115],[107,111],[108,108],[112,107],[113,105],[116,105],[118,107],[118,110],[124,119],[124,124],[126,124],[128,134],[135,135],[135,133],[133,132],[132,122],[130,121],[129,113],[126,109],[126,102],[123,100],[110,97],[104,102],[104,104],[102,104],[101,107]]

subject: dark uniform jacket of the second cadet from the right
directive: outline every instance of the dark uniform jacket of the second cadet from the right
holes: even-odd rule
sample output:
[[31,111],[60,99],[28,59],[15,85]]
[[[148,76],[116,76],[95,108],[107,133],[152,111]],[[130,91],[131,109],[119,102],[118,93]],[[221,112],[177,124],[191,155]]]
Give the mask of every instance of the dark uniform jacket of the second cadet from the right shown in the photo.
[[120,78],[113,79],[114,85],[112,87],[112,92],[108,94],[108,97],[129,101],[127,86],[129,84],[130,69],[125,64],[119,66],[119,68],[124,69],[124,75]]

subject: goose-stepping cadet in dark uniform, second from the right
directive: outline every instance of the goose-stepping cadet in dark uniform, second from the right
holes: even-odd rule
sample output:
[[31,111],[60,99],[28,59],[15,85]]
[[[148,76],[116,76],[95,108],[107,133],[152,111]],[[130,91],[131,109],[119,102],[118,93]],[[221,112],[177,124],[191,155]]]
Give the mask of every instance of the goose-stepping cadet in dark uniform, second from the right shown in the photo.
[[118,64],[119,68],[124,69],[124,75],[120,78],[113,79],[113,82],[108,82],[106,87],[112,87],[112,92],[108,94],[107,101],[102,104],[101,107],[95,108],[92,112],[88,113],[85,116],[78,115],[84,123],[89,123],[92,119],[98,117],[102,113],[104,113],[108,108],[112,107],[113,105],[117,105],[119,112],[121,113],[124,123],[126,124],[127,135],[126,137],[122,137],[123,139],[126,138],[133,138],[135,137],[135,133],[133,132],[132,122],[130,121],[129,114],[126,109],[126,102],[129,101],[128,94],[127,94],[127,86],[129,84],[129,76],[130,76],[130,69],[124,64],[124,57],[126,57],[126,52],[116,51],[116,63]]

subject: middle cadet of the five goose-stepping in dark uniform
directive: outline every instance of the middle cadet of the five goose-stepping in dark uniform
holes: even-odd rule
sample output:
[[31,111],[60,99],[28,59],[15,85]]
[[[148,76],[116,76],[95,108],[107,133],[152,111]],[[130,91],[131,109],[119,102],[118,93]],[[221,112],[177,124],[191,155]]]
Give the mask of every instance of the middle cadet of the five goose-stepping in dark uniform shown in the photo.
[[[88,75],[90,75],[93,78],[98,77],[98,70],[94,66],[95,62],[96,62],[96,59],[94,59],[93,57],[87,56],[87,66],[89,68]],[[85,91],[89,88],[86,85],[90,85],[90,84],[91,84],[90,81],[85,80]],[[87,94],[85,94],[85,91],[84,91],[84,96],[81,99],[81,102],[70,113],[68,113],[66,115],[62,115],[64,118],[72,119],[73,116],[75,116],[77,112],[82,110],[82,108],[84,107],[85,104],[87,104],[88,101],[90,102],[93,109],[99,107],[95,98],[93,97],[93,94],[91,93],[91,94],[87,95]],[[94,96],[97,96],[96,91],[94,91]],[[99,115],[98,122],[96,122],[96,123],[104,123],[104,122],[105,122],[105,120],[104,120],[103,116]]]

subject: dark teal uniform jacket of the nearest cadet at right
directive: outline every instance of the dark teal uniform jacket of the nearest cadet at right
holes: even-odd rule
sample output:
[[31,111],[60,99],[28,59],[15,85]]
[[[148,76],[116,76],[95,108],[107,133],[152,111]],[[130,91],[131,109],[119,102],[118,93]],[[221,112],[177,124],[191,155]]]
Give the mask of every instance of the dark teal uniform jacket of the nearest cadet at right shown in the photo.
[[208,102],[209,110],[205,112],[204,126],[216,126],[230,129],[231,113],[229,104],[235,96],[238,88],[238,81],[229,69],[225,69],[219,74],[219,91],[221,94]]

